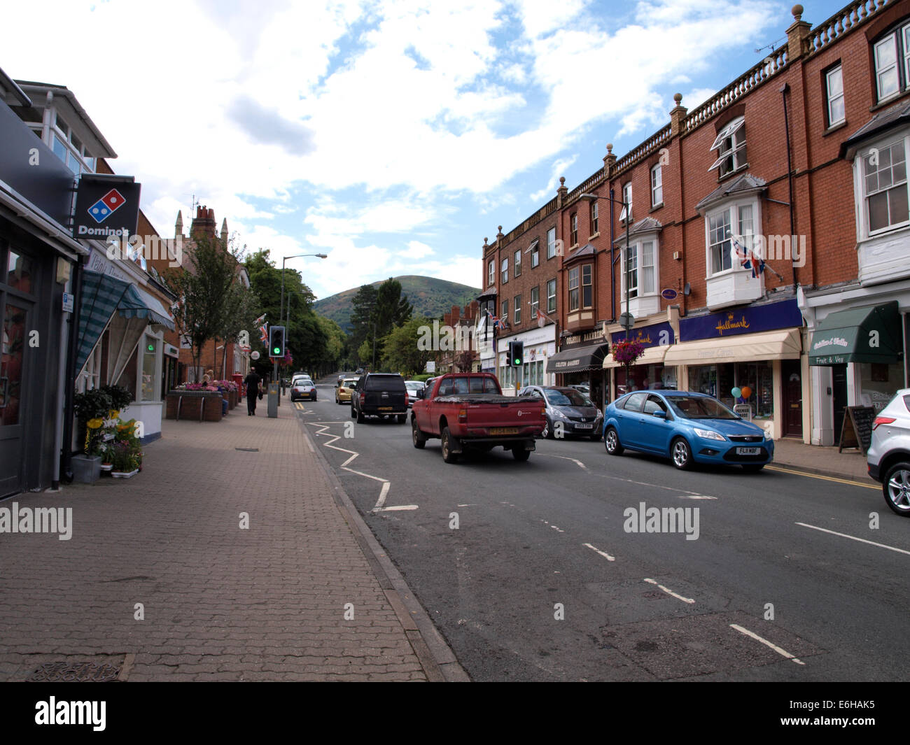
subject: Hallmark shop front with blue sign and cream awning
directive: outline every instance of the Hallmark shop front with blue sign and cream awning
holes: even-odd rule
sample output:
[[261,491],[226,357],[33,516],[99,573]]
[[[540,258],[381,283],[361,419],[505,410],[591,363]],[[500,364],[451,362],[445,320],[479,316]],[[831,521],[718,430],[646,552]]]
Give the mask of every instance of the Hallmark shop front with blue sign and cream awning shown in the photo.
[[664,368],[677,367],[679,388],[742,405],[770,437],[802,438],[802,319],[795,298],[681,318],[681,341],[667,349]]

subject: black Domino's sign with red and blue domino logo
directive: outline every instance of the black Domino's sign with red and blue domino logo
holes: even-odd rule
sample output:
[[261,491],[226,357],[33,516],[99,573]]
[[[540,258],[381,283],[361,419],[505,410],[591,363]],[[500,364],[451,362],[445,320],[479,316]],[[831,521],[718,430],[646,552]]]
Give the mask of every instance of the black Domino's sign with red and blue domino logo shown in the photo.
[[134,235],[141,188],[133,176],[84,174],[76,193],[73,237],[106,239]]

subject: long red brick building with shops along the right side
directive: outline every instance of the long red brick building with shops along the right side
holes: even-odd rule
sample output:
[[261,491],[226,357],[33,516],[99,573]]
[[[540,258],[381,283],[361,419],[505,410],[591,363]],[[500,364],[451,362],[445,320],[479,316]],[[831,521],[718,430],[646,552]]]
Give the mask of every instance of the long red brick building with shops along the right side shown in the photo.
[[[513,277],[521,245],[554,230],[564,246],[545,375],[589,382],[599,403],[598,387],[701,390],[747,403],[775,438],[824,445],[844,406],[881,408],[907,385],[910,0],[814,27],[793,12],[784,46],[693,111],[674,96],[661,130],[623,156],[608,145],[484,247],[480,301],[501,312],[552,273],[522,262]],[[646,347],[628,380],[608,353],[627,307]]]

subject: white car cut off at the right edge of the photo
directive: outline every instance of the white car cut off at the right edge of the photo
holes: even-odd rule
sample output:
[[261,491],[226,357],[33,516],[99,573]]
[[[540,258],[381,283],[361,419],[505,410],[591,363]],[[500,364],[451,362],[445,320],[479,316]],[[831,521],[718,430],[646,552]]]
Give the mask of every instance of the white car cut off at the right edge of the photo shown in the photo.
[[865,459],[888,507],[910,518],[910,388],[897,391],[875,417]]

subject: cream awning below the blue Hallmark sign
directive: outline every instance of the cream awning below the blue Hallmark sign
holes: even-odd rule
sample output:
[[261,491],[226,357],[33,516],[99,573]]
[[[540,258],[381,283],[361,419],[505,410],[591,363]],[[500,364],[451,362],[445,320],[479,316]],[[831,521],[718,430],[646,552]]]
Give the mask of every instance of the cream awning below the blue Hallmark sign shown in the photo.
[[716,365],[722,362],[762,362],[765,359],[799,359],[799,329],[764,331],[735,337],[686,341],[674,344],[663,357],[664,365]]

